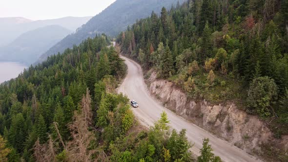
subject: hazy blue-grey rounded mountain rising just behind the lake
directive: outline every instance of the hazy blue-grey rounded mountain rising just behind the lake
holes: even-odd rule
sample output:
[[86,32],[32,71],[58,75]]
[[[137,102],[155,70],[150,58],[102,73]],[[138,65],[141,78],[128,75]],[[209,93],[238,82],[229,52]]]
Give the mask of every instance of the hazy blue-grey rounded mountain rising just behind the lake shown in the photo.
[[29,65],[71,32],[60,25],[49,25],[26,32],[9,45],[0,47],[0,61],[17,61]]

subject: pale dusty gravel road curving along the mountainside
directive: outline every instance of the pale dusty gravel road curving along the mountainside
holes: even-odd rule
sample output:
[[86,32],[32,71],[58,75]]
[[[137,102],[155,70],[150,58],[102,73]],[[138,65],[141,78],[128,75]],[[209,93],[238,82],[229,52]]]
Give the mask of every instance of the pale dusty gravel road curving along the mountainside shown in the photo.
[[187,130],[186,136],[191,144],[194,144],[190,149],[194,154],[199,155],[203,139],[209,138],[210,144],[214,149],[214,154],[220,156],[224,162],[261,162],[242,149],[217,138],[206,130],[166,109],[162,103],[156,101],[147,91],[141,66],[128,58],[123,56],[122,58],[128,66],[128,71],[118,92],[127,95],[129,99],[134,99],[139,103],[139,108],[133,108],[133,113],[142,124],[152,126],[155,121],[160,119],[160,114],[165,111],[170,120],[170,126],[173,129],[176,129],[178,132],[181,129]]

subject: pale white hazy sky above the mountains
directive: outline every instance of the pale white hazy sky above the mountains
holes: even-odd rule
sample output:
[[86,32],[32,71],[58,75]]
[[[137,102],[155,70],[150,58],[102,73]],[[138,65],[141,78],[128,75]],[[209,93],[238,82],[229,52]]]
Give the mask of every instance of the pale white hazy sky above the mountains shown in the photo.
[[45,20],[95,16],[115,0],[0,0],[0,17]]

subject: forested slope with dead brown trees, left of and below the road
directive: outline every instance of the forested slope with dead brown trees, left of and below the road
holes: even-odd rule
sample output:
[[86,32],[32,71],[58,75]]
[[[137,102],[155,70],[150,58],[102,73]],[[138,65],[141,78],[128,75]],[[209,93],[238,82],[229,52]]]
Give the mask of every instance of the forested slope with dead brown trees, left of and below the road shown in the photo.
[[[116,94],[125,66],[105,35],[24,70],[0,85],[0,161],[191,162],[185,130],[170,131],[165,112],[149,130]],[[221,162],[208,139],[200,162]]]

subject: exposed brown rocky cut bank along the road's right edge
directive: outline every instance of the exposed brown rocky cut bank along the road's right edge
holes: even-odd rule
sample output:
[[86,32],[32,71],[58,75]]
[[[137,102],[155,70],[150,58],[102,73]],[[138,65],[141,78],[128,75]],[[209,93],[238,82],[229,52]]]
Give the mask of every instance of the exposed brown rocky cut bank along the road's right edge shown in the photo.
[[[152,72],[150,76],[145,77],[148,90],[177,115],[244,149],[247,153],[266,157],[265,154],[276,151],[277,154],[282,152],[285,156],[283,152],[286,152],[287,155],[288,136],[280,140],[275,139],[264,121],[237,109],[233,103],[212,105],[205,100],[190,100],[173,82],[157,80],[156,76],[157,74]],[[273,147],[272,150],[270,146]]]

